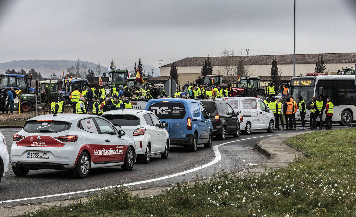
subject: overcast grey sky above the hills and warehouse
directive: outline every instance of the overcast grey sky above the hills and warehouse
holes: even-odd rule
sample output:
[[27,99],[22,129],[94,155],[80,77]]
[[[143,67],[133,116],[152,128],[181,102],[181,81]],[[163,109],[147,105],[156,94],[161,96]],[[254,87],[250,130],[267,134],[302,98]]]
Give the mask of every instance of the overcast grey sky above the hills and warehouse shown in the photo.
[[[293,0],[1,0],[0,62],[158,67],[185,57],[293,54]],[[296,53],[356,52],[355,0],[297,0]],[[246,55],[246,51],[242,52]]]

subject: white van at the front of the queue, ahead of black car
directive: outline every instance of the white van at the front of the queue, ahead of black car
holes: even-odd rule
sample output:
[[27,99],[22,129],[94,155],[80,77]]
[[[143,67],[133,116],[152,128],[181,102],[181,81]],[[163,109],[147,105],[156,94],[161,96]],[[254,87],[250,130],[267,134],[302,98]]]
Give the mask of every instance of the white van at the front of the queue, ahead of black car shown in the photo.
[[234,111],[239,112],[241,131],[250,134],[251,130],[267,129],[274,131],[274,115],[261,99],[256,97],[224,97],[219,98],[227,101]]

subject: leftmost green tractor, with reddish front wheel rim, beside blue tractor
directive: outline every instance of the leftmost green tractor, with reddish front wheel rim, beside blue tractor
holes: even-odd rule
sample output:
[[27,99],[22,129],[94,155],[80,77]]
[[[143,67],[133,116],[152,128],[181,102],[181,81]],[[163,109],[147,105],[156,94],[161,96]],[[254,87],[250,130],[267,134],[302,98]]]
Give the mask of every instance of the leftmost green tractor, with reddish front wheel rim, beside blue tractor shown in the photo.
[[[38,94],[37,104],[51,104],[54,98],[62,96],[58,92],[57,80],[40,81],[40,93]],[[31,112],[36,106],[36,94],[20,95],[20,111]]]

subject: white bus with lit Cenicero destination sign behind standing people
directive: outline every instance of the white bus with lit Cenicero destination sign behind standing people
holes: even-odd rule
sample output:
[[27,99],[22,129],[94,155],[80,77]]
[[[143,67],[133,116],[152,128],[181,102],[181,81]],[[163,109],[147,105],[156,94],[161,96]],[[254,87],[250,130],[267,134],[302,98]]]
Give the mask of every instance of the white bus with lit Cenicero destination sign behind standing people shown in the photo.
[[[326,99],[331,97],[331,102],[334,104],[333,121],[339,122],[342,126],[356,121],[355,75],[300,76],[290,79],[288,97],[292,96],[294,101],[298,102],[298,96],[303,96],[307,105],[305,121],[309,121],[309,105],[317,95],[322,97],[324,107]],[[299,110],[296,120],[300,120]],[[325,120],[325,113],[323,120]]]

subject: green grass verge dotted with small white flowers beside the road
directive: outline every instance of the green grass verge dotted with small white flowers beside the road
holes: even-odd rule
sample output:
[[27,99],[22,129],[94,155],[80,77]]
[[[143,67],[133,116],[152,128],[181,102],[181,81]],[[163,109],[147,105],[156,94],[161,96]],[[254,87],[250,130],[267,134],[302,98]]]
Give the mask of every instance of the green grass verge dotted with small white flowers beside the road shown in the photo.
[[356,216],[356,129],[303,134],[287,143],[307,158],[260,176],[223,171],[146,198],[115,188],[86,203],[26,216]]

